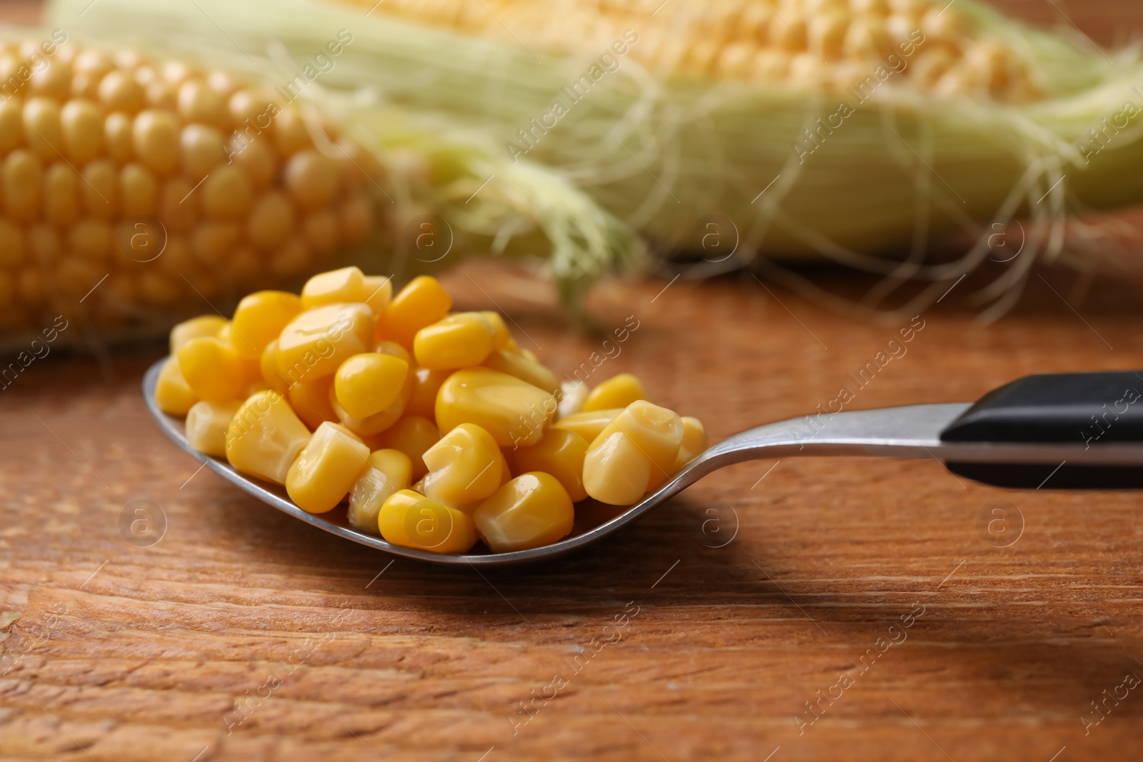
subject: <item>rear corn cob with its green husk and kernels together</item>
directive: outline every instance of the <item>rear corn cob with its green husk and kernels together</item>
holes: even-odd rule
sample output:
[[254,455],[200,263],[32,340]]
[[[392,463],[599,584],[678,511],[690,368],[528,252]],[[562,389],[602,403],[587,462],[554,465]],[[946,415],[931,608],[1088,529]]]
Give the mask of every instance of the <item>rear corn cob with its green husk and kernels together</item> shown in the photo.
[[[82,2],[53,5],[72,18]],[[908,271],[940,295],[989,256],[996,223],[1028,215],[1026,255],[994,297],[1061,252],[1070,211],[1143,199],[1137,53],[1073,43],[974,0],[199,5],[238,45],[281,41],[297,57],[313,30],[351,25],[360,43],[327,86],[375,87],[479,130],[489,151],[566,173],[660,249],[718,267],[825,256]],[[225,48],[197,14],[101,0],[83,22],[107,33],[144,18],[181,45]],[[1128,101],[1127,127],[1101,121]],[[720,248],[704,251],[712,220]],[[916,264],[957,230],[978,236],[962,259]],[[905,270],[869,256],[910,248]]]

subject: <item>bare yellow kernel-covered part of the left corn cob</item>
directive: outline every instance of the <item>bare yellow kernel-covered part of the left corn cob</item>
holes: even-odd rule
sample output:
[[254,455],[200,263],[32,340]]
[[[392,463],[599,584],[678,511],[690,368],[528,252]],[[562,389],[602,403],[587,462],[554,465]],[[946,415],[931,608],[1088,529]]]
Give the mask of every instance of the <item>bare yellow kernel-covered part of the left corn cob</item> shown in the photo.
[[209,310],[371,232],[383,171],[333,126],[223,72],[57,35],[0,46],[3,328]]

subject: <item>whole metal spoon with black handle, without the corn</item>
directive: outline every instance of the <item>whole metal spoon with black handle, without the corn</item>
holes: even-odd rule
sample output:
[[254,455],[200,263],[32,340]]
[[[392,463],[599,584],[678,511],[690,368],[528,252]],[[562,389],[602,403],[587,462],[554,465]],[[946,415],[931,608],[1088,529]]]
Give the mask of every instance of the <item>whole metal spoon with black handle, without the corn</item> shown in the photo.
[[530,551],[442,555],[358,531],[339,511],[306,513],[282,487],[249,479],[226,460],[191,448],[183,422],[155,403],[162,363],[153,364],[143,377],[143,396],[159,427],[183,450],[299,521],[393,555],[433,563],[496,567],[562,555],[617,531],[713,471],[760,458],[935,459],[946,462],[953,473],[1000,487],[1143,488],[1143,404],[1135,391],[1143,390],[1143,376],[1133,371],[1028,376],[990,392],[976,404],[823,412],[751,428],[700,454],[641,502],[583,534]]

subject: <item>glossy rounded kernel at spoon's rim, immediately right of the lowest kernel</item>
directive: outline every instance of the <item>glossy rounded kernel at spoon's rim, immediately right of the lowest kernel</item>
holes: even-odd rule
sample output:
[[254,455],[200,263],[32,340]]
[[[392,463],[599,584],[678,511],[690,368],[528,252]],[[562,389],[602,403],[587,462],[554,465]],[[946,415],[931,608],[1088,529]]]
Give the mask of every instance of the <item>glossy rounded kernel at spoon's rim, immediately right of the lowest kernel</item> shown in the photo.
[[551,545],[572,531],[575,510],[560,481],[531,472],[517,476],[472,513],[480,539],[494,553]]

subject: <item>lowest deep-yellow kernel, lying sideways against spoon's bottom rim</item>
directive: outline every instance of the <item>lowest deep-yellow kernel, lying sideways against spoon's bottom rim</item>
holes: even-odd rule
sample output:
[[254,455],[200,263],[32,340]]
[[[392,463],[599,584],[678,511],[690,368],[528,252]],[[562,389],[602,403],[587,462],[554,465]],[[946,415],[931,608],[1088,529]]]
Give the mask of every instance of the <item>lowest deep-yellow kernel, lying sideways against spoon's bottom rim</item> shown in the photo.
[[432,553],[464,553],[477,542],[472,516],[411,489],[394,492],[385,500],[377,528],[393,545]]

